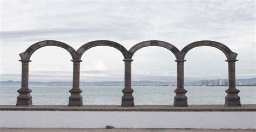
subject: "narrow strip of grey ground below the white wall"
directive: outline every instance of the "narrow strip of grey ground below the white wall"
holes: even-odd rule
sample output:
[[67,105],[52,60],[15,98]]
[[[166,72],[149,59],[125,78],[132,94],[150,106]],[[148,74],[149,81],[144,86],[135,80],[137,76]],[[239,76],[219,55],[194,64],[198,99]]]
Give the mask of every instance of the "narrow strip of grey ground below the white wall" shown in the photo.
[[101,132],[101,131],[114,131],[114,132],[138,132],[138,131],[145,131],[145,132],[163,132],[163,131],[177,131],[177,132],[246,132],[246,131],[253,131],[255,132],[256,129],[159,129],[159,128],[114,128],[114,129],[104,129],[104,128],[0,128],[1,132],[26,132],[26,131],[77,131],[77,132]]

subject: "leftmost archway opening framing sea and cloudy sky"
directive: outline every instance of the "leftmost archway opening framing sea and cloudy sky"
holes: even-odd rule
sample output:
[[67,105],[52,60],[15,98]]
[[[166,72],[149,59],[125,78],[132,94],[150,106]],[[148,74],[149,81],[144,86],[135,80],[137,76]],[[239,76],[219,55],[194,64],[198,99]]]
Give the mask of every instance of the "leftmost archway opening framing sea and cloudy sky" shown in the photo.
[[72,57],[65,49],[46,46],[32,54],[29,89],[33,105],[68,105],[72,88]]

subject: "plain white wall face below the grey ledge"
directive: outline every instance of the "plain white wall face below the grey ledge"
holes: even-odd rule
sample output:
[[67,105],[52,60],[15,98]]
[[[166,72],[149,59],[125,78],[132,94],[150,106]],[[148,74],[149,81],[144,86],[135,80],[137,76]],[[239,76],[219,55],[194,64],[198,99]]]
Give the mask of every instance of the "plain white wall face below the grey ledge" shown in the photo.
[[0,111],[2,128],[256,128],[256,112]]

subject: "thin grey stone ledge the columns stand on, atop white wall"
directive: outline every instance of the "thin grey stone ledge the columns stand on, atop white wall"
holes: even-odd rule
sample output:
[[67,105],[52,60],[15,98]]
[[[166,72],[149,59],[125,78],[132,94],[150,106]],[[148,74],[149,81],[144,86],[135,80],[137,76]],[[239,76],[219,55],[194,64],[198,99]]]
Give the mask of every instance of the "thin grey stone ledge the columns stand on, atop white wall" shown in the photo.
[[241,107],[225,107],[224,105],[189,105],[188,107],[173,107],[171,105],[136,105],[134,107],[116,105],[85,105],[82,107],[0,105],[0,111],[256,112],[256,105],[242,105]]

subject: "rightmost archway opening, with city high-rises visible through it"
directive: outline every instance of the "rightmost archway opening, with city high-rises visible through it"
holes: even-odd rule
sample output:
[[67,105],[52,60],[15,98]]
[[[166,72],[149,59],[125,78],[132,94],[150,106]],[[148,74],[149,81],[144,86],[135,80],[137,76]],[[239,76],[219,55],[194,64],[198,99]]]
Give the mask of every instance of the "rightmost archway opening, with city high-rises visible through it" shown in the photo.
[[201,46],[191,49],[185,60],[184,88],[188,105],[223,105],[228,89],[225,54],[217,48]]

